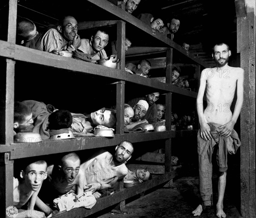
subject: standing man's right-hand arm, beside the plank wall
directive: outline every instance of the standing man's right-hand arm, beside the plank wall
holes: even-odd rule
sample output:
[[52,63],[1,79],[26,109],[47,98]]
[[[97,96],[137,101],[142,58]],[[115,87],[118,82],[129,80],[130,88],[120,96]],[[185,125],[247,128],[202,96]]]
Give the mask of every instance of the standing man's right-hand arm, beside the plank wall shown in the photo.
[[236,124],[236,121],[241,112],[243,101],[244,101],[244,70],[240,68],[238,72],[238,78],[237,78],[237,100],[236,100],[235,110],[230,121],[222,125],[221,127],[219,127],[220,129],[223,128],[223,130],[220,132],[221,136],[229,137],[232,134],[234,125]]

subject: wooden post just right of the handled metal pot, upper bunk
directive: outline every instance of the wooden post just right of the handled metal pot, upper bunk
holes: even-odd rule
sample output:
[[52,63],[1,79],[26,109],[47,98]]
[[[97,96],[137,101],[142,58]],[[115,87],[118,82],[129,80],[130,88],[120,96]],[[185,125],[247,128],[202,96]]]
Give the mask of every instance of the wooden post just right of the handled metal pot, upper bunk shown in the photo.
[[120,58],[120,62],[118,64],[118,69],[125,70],[125,22],[120,20],[117,23],[117,35],[116,35],[116,43],[117,43],[117,57]]

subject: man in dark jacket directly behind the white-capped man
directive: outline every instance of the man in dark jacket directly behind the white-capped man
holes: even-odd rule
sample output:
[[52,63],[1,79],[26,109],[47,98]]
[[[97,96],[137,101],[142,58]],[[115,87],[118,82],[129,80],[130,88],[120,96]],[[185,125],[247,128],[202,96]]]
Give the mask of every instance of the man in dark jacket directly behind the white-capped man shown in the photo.
[[159,96],[159,92],[149,93],[148,95],[145,95],[145,97],[131,99],[128,102],[128,105],[134,107],[140,100],[145,100],[146,102],[148,102],[149,108],[143,119],[146,119],[149,124],[152,124],[155,127],[155,125],[157,124],[157,106],[155,102],[157,102]]

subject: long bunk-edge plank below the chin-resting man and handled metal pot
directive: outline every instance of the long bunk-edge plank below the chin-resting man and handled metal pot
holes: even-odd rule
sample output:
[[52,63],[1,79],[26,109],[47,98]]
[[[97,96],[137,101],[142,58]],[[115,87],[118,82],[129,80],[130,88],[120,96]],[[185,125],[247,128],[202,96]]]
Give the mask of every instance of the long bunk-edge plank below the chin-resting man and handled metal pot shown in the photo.
[[33,64],[44,65],[47,67],[54,67],[58,69],[70,70],[73,72],[108,77],[113,78],[115,81],[129,81],[159,90],[165,90],[167,92],[172,91],[172,86],[170,84],[163,84],[159,81],[153,81],[150,78],[130,74],[125,70],[104,67],[99,64],[80,61],[74,58],[61,57],[60,55],[55,55],[49,52],[42,52],[19,45],[11,45],[6,41],[0,41],[0,43],[0,56],[12,58],[15,61],[25,61]]

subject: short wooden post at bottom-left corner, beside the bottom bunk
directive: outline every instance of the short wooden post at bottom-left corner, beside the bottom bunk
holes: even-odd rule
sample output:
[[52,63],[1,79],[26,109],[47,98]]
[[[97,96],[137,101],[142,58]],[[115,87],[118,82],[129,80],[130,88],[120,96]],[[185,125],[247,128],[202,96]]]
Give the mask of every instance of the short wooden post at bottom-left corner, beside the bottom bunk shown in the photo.
[[13,160],[9,153],[0,154],[0,217],[6,217],[6,208],[13,205]]

